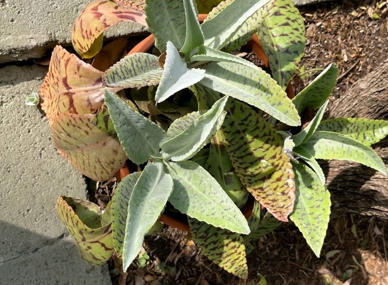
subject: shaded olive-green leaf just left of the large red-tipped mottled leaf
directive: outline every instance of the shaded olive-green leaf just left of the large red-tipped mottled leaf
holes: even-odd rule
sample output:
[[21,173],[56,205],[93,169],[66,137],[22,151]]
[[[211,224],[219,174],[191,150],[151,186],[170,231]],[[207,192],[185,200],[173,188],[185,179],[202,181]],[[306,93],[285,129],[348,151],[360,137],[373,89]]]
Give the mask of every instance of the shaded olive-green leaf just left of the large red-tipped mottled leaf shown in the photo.
[[225,149],[225,143],[225,137],[221,130],[213,135],[209,160],[205,168],[221,185],[229,198],[240,208],[248,200],[249,192],[234,172]]

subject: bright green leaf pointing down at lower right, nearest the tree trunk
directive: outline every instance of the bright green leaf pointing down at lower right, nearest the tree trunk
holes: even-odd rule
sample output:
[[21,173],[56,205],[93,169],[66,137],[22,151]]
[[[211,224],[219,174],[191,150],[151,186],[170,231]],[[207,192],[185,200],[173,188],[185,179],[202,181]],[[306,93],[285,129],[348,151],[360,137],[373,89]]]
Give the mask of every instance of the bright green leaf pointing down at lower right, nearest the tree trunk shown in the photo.
[[292,164],[295,172],[296,200],[290,219],[319,257],[330,217],[330,193],[319,177],[304,164]]

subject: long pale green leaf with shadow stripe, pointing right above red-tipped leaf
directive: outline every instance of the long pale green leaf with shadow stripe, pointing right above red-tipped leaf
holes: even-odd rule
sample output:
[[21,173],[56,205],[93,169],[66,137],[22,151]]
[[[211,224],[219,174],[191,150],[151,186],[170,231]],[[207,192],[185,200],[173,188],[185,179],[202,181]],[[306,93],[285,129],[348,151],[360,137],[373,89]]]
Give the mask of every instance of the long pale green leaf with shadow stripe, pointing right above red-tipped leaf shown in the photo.
[[300,117],[286,92],[260,67],[213,62],[205,70],[200,84],[253,105],[290,126],[300,125]]

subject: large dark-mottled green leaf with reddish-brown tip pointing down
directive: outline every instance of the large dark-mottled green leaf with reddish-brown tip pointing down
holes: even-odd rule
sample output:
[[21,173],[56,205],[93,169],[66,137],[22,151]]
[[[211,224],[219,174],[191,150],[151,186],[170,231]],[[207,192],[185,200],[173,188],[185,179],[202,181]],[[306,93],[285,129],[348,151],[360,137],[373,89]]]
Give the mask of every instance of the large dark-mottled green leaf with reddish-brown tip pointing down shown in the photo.
[[283,140],[255,111],[233,100],[222,126],[226,151],[242,184],[276,218],[288,221],[295,199],[290,159]]

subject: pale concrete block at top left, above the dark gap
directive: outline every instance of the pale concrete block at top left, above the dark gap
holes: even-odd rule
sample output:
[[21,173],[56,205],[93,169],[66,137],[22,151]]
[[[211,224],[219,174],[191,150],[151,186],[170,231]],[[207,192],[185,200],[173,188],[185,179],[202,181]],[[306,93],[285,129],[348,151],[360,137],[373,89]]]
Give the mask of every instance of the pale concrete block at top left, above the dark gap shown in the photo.
[[[70,44],[73,23],[90,0],[0,0],[0,63],[39,58],[56,44]],[[107,37],[144,33],[120,23]]]

